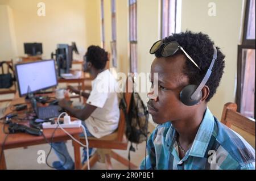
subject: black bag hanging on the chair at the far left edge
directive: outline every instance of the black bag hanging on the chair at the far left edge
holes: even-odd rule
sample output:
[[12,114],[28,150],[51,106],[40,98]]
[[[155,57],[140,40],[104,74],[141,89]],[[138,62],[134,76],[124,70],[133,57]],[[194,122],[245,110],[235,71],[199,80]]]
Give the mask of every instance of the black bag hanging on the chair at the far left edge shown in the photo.
[[[3,64],[7,64],[7,62],[0,62],[0,68],[3,66]],[[8,69],[11,69],[11,71],[13,71],[14,73],[13,67],[9,64],[7,65]],[[13,77],[11,73],[5,74],[4,72],[2,72],[2,74],[0,74],[0,89],[9,89],[11,86],[13,86],[13,81],[15,81],[15,77]]]

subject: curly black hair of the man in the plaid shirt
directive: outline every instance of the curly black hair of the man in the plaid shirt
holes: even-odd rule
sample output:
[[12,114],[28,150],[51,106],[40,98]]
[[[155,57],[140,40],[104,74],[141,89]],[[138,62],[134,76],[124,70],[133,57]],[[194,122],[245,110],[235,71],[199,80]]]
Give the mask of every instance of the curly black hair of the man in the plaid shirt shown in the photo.
[[[183,69],[183,73],[189,78],[189,84],[198,86],[203,80],[204,75],[210,66],[210,63],[212,62],[214,45],[213,41],[210,40],[208,35],[202,32],[194,33],[191,31],[174,33],[171,36],[163,39],[163,43],[169,43],[171,41],[177,41],[177,43],[179,43],[181,47],[183,47],[183,49],[196,62],[196,64],[199,65],[201,70],[197,69],[196,66],[190,60],[188,60],[186,61]],[[206,83],[206,85],[210,89],[209,96],[206,99],[206,102],[209,102],[212,96],[216,93],[216,89],[220,85],[220,80],[225,68],[225,55],[222,54],[220,48],[216,48],[218,53],[217,60],[214,62],[212,74],[210,75],[210,78]],[[155,52],[156,57],[162,57],[162,49],[163,46]],[[178,50],[175,55],[176,54],[184,53],[181,50]]]

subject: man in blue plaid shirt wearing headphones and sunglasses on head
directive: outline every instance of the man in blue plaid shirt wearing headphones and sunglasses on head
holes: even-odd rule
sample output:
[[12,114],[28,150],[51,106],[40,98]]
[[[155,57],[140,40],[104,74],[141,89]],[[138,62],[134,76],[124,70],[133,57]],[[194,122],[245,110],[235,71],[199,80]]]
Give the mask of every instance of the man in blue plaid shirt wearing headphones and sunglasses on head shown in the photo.
[[158,86],[148,93],[147,104],[159,125],[148,138],[141,169],[255,169],[255,150],[207,107],[225,66],[209,36],[173,34],[150,53],[156,56],[151,74],[158,73]]

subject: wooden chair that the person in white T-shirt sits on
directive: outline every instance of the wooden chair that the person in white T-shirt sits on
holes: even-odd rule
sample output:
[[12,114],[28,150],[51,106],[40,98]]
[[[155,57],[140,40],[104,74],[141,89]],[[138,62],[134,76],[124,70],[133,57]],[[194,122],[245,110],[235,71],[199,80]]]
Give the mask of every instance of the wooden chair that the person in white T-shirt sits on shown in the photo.
[[[127,104],[127,110],[130,107],[131,101],[131,90],[132,90],[132,79],[128,78],[126,81],[126,92],[125,92],[125,100]],[[129,89],[129,91],[128,91]],[[112,151],[112,149],[119,149],[119,150],[127,150],[128,140],[125,137],[125,114],[122,110],[120,110],[120,118],[118,129],[114,133],[104,136],[102,138],[94,138],[88,137],[89,148],[97,148],[97,154],[94,154],[92,157],[89,158],[90,166],[93,166],[99,159],[102,162],[105,162],[106,169],[112,169],[112,163],[110,158],[114,158],[118,162],[121,162],[123,165],[129,166],[129,161],[126,158],[123,158],[121,155]],[[85,139],[80,138],[81,142],[86,145]],[[136,169],[137,166],[133,163],[130,163],[131,169]],[[82,166],[82,169],[88,169],[87,162]]]

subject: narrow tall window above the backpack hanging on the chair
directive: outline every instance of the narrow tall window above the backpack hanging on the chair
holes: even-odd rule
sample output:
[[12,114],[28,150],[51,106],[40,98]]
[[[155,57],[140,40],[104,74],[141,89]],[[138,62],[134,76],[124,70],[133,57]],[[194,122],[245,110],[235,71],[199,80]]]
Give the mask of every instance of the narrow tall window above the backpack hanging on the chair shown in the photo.
[[129,0],[130,71],[137,72],[137,0]]

